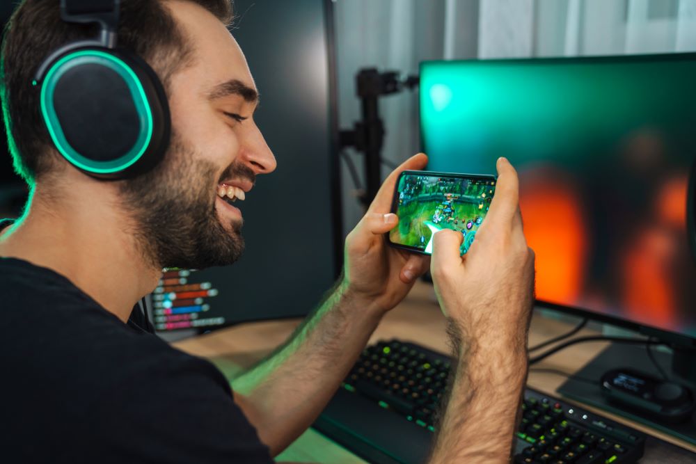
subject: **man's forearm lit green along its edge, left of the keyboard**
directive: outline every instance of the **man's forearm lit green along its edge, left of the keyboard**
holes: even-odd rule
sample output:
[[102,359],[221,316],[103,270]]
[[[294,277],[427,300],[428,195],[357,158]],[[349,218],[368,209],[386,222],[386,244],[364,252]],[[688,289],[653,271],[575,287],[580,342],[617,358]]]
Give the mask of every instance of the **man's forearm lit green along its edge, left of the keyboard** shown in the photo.
[[232,381],[237,403],[272,455],[314,422],[381,314],[339,285],[285,345]]

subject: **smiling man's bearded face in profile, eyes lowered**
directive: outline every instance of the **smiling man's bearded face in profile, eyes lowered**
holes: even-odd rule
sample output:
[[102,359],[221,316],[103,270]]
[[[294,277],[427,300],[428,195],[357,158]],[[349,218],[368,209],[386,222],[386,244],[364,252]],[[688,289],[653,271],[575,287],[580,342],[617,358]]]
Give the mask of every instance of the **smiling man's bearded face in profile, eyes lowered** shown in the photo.
[[253,121],[258,93],[232,35],[194,3],[165,5],[193,48],[193,64],[169,82],[173,137],[164,162],[124,182],[122,192],[153,264],[230,264],[244,249],[237,206],[276,160]]

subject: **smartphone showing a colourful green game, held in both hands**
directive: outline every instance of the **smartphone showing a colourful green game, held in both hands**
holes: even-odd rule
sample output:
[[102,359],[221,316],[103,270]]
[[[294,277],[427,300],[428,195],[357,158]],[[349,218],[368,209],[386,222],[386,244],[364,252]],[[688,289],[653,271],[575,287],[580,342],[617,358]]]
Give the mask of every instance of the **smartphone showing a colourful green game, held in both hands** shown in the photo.
[[461,255],[471,247],[496,191],[493,175],[406,170],[396,182],[392,212],[399,224],[387,234],[392,246],[432,255],[435,232],[464,236]]

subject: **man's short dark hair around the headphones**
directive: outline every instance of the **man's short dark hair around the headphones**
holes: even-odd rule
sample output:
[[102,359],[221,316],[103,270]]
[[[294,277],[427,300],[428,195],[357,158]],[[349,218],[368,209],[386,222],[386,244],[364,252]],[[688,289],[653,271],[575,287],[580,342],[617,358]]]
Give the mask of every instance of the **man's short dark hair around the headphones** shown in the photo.
[[[188,0],[226,25],[232,21],[230,0]],[[8,22],[0,63],[0,97],[15,172],[28,184],[47,173],[53,157],[39,109],[39,90],[31,85],[42,61],[61,45],[94,38],[95,24],[61,20],[58,0],[24,0]],[[161,0],[121,0],[118,45],[141,56],[167,88],[171,75],[187,64],[192,49]]]

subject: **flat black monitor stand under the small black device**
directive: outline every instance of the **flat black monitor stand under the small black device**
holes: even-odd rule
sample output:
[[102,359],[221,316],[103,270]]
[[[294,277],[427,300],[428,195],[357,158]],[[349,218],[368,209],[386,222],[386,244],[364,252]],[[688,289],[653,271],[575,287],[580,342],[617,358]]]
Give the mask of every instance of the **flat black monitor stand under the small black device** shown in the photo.
[[[685,380],[683,377],[676,376],[674,374],[674,369],[672,369],[674,366],[678,371],[684,372],[683,369],[681,369],[682,367],[693,368],[693,365],[696,364],[696,356],[693,351],[677,351],[677,358],[674,358],[674,362],[672,362],[673,355],[670,353],[654,350],[653,354],[656,361],[665,370],[670,379],[686,385],[690,387],[692,392],[696,392],[696,381],[693,376],[689,376],[690,380]],[[569,399],[574,399],[589,404],[590,406],[601,408],[610,413],[626,417],[635,422],[640,422],[641,424],[653,427],[663,433],[672,435],[675,438],[686,440],[696,445],[696,413],[691,415],[690,420],[674,424],[644,417],[640,413],[636,413],[635,410],[630,410],[615,402],[608,401],[607,397],[602,392],[600,379],[606,372],[612,369],[633,369],[635,371],[643,371],[652,376],[660,376],[657,369],[648,358],[647,350],[644,345],[612,344],[574,374],[584,379],[596,379],[596,385],[569,378],[560,386],[557,392]],[[691,374],[693,374],[693,372]]]

